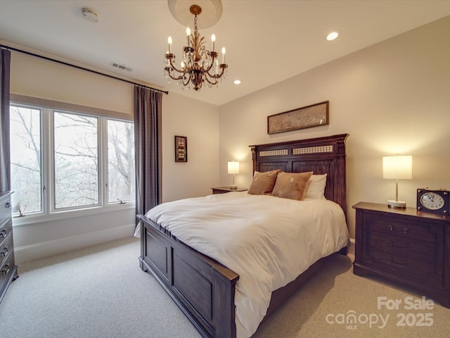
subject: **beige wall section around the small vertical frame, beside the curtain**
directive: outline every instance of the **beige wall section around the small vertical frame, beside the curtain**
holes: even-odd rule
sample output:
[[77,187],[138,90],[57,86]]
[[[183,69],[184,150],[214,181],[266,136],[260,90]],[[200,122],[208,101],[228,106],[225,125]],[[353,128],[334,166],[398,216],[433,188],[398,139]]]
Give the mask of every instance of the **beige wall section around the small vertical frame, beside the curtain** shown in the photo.
[[[211,194],[219,183],[219,107],[169,93],[162,101],[162,199]],[[174,137],[188,137],[188,162],[175,162]]]

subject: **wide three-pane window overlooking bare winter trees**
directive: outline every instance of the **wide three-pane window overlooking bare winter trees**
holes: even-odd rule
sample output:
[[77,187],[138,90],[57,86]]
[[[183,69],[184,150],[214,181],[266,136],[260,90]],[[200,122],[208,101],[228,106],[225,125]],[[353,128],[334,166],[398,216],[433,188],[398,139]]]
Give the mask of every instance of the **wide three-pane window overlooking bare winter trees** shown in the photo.
[[10,105],[14,215],[101,208],[134,200],[134,124]]

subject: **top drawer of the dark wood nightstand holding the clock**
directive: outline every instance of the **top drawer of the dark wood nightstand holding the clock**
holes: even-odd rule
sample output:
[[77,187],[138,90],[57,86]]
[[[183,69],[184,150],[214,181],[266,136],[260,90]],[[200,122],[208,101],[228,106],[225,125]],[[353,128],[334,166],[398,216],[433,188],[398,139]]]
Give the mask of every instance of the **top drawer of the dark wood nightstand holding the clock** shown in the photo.
[[366,230],[379,232],[384,236],[397,236],[417,239],[421,242],[437,244],[444,237],[444,225],[427,223],[418,220],[401,220],[400,218],[385,215],[367,215]]

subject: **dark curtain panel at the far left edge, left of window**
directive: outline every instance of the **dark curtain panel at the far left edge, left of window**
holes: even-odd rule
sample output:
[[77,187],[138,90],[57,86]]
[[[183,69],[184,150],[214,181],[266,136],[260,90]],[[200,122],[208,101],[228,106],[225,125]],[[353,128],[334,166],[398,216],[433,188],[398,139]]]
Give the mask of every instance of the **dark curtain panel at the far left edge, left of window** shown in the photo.
[[9,141],[9,77],[11,51],[0,54],[0,192],[11,190],[11,156]]

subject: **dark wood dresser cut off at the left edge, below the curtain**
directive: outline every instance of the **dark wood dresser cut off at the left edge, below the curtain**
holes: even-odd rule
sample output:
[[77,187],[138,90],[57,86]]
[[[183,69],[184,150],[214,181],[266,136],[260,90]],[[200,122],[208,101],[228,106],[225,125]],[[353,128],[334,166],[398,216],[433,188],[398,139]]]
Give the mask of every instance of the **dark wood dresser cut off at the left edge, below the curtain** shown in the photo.
[[0,302],[9,284],[17,277],[13,250],[11,192],[0,192]]

